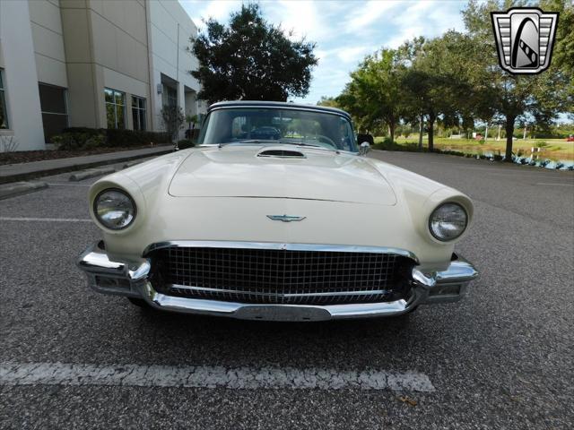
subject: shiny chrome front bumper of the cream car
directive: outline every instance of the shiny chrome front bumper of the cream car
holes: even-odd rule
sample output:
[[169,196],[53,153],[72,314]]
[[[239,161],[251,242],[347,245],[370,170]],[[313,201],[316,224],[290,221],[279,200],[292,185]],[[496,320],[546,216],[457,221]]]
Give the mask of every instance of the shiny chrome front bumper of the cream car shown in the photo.
[[86,273],[88,285],[99,293],[143,298],[152,307],[165,311],[266,321],[322,321],[406,314],[418,305],[460,300],[466,294],[468,283],[478,276],[472,264],[453,254],[446,271],[423,273],[415,267],[411,274],[412,295],[407,300],[354,305],[257,305],[161,294],[149,280],[152,268],[149,260],[112,261],[102,242],[89,246],[78,258],[77,265]]

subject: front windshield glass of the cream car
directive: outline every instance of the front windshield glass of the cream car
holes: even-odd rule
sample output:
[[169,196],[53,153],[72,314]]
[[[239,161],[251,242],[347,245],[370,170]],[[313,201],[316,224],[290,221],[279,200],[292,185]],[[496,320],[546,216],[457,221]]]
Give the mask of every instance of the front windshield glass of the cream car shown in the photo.
[[199,144],[234,142],[316,146],[357,151],[351,122],[324,112],[274,107],[226,108],[207,116]]

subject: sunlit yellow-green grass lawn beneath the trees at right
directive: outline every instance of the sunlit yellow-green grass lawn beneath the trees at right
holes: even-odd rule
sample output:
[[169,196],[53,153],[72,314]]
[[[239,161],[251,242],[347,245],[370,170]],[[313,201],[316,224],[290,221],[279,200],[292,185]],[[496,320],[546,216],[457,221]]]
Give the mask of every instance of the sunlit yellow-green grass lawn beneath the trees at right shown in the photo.
[[[376,137],[375,143],[383,142],[384,137]],[[545,146],[544,146],[545,142]],[[417,144],[418,137],[408,137],[403,136],[396,139],[398,145]],[[428,145],[428,139],[425,137],[422,140],[424,146]],[[543,148],[539,153],[540,158],[543,159],[561,159],[561,160],[574,160],[574,142],[566,142],[565,139],[518,139],[514,141],[513,150],[514,153],[521,151],[523,155],[530,155],[532,147],[537,145],[542,145]],[[506,148],[506,141],[500,140],[496,141],[491,138],[486,142],[478,142],[472,139],[448,139],[446,137],[435,137],[434,146],[439,150],[458,150],[461,152],[466,152],[470,154],[483,154],[484,152],[491,152],[498,154],[500,151],[501,155],[504,155],[504,150]]]

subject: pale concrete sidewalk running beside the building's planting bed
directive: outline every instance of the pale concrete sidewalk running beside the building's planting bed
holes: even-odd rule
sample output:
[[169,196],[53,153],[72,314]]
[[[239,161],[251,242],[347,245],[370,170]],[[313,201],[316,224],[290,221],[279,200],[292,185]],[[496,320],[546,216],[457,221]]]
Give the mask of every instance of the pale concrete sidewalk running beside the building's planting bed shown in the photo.
[[173,146],[162,145],[143,150],[122,150],[70,159],[47,159],[30,163],[9,164],[0,166],[0,184],[25,181],[40,176],[57,175],[83,168],[95,168],[106,164],[122,163],[131,159],[143,159],[154,155],[167,154],[172,150]]

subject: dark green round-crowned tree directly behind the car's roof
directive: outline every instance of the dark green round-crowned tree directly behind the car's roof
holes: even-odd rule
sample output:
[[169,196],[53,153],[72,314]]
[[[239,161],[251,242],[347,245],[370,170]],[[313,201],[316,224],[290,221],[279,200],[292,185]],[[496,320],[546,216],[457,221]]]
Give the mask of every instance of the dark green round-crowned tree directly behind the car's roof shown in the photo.
[[210,19],[191,41],[199,61],[191,74],[202,86],[200,99],[286,101],[309,92],[315,44],[291,41],[265,21],[258,4],[243,4],[228,25]]

